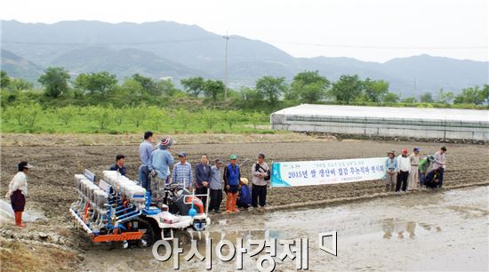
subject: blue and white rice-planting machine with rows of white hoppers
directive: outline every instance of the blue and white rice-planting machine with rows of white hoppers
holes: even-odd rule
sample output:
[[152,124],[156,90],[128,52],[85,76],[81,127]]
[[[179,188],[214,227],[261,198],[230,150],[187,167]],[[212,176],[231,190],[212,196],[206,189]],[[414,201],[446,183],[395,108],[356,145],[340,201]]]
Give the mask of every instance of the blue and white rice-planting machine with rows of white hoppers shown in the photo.
[[[75,175],[75,186],[80,197],[69,212],[93,242],[148,246],[159,239],[172,240],[181,232],[200,236],[211,223],[208,203],[176,186],[164,188],[164,203],[157,207],[151,205],[150,192],[116,171],[104,171],[96,184],[93,172],[85,170]],[[209,197],[205,199],[208,202]]]

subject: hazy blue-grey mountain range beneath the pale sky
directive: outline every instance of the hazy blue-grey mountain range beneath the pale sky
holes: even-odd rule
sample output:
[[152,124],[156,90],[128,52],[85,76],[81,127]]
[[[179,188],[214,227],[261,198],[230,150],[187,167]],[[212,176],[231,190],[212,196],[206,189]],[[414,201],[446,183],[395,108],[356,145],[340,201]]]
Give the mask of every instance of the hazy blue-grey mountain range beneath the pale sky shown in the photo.
[[[72,76],[107,70],[119,78],[140,73],[171,77],[175,83],[188,76],[222,79],[225,67],[223,36],[196,25],[172,21],[107,23],[60,21],[53,24],[1,20],[2,69],[11,76],[35,82],[44,68],[62,66]],[[489,62],[455,60],[426,54],[384,63],[352,58],[294,58],[277,47],[244,36],[228,37],[228,84],[253,85],[261,76],[293,76],[318,70],[335,80],[343,74],[383,79],[390,90],[460,92],[489,83]]]

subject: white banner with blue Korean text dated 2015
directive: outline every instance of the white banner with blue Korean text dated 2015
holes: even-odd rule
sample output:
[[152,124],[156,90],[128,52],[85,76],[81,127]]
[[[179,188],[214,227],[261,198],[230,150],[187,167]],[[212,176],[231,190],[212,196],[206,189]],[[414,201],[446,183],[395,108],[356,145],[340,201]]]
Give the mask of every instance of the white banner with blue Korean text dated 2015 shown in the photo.
[[336,184],[385,178],[386,158],[286,162],[272,164],[271,187]]

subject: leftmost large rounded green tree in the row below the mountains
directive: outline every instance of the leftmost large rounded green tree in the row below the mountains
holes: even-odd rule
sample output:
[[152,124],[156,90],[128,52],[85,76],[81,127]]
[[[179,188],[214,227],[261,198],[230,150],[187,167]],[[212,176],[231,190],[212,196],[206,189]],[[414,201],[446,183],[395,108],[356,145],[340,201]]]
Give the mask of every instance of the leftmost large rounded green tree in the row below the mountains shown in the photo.
[[68,92],[68,79],[70,78],[67,71],[61,67],[50,67],[45,69],[44,74],[37,80],[44,86],[44,93],[51,98],[58,98]]

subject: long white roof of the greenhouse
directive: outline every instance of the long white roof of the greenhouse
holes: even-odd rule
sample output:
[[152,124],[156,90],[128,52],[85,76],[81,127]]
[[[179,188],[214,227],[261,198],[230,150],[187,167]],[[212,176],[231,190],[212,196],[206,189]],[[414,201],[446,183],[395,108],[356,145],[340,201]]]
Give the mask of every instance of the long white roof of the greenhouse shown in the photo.
[[394,108],[301,104],[273,114],[361,118],[429,119],[489,123],[489,110],[456,108]]

